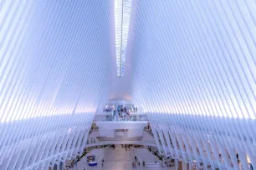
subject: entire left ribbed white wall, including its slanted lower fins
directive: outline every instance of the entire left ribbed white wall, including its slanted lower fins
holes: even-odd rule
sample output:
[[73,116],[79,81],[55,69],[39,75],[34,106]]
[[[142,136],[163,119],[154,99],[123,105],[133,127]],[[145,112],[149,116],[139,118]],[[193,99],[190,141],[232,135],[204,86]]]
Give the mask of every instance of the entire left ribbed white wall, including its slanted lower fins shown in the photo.
[[0,169],[47,168],[84,149],[108,87],[110,8],[0,1]]

